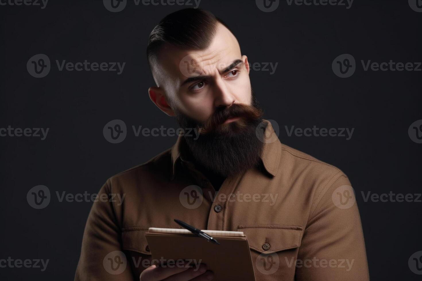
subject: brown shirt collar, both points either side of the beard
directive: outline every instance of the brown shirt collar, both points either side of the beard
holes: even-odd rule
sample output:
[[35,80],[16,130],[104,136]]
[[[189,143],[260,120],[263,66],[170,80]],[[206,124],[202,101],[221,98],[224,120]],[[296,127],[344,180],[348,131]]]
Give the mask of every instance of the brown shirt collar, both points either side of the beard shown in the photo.
[[[276,134],[276,131],[274,131],[274,128],[271,125],[271,122],[265,119],[263,119],[263,122],[266,123],[267,126],[264,131],[264,136],[265,136],[263,139],[264,147],[262,150],[261,160],[262,160],[262,163],[264,164],[265,170],[268,173],[270,173],[273,177],[275,177],[277,174],[277,169],[279,168],[279,163],[280,163],[281,143]],[[181,156],[180,144],[181,144],[182,137],[183,137],[182,135],[179,135],[176,143],[171,148],[171,163],[172,163],[171,179],[172,180],[175,177],[176,163]]]

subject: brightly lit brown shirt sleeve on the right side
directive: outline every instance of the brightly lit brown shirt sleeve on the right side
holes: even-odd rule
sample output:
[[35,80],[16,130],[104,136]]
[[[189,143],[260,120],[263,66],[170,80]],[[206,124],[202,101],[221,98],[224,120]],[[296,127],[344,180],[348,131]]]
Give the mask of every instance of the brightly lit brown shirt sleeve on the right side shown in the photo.
[[295,280],[369,280],[354,190],[341,172],[314,195]]

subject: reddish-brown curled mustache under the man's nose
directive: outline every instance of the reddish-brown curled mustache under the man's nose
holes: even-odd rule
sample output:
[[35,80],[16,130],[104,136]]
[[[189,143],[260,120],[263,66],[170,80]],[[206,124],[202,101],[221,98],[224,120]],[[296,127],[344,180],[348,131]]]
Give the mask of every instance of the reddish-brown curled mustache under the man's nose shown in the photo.
[[[263,112],[260,108],[247,104],[232,104],[229,107],[217,108],[216,111],[201,125],[198,131],[201,134],[207,134],[215,131],[218,126],[222,125],[228,118],[241,118],[244,121],[256,120],[262,118]],[[231,123],[227,124],[230,125]]]

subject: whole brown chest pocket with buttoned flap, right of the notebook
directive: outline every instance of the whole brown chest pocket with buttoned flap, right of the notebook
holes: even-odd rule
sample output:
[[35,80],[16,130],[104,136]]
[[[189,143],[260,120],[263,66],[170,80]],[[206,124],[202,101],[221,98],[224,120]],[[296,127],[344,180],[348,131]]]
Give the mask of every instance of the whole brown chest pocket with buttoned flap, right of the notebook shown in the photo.
[[257,281],[294,280],[303,227],[293,225],[239,226],[248,239]]

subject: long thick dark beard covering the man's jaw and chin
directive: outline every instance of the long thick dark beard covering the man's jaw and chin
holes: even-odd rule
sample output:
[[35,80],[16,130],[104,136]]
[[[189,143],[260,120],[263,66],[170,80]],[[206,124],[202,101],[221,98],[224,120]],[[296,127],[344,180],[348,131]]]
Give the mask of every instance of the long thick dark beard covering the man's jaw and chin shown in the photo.
[[[236,107],[236,104],[232,104],[233,106]],[[209,124],[213,123],[212,119],[218,122],[224,121],[220,120],[222,116],[227,118],[227,114],[221,114],[222,110],[216,110],[206,122],[202,123],[175,110],[176,120],[186,133],[190,128],[197,130],[208,128],[205,134],[201,133],[198,137],[192,133],[184,134],[189,154],[196,163],[222,177],[240,174],[258,165],[264,143],[260,141],[262,136],[261,138],[257,136],[257,134],[263,134],[263,130],[256,129],[262,122],[262,110],[253,92],[252,106],[249,110],[242,111],[245,107],[247,109],[248,106],[242,104],[236,108],[233,107],[234,110],[222,109],[225,113],[235,112],[235,116],[243,116],[244,119],[220,126],[209,126]],[[209,131],[209,128],[214,129]]]

